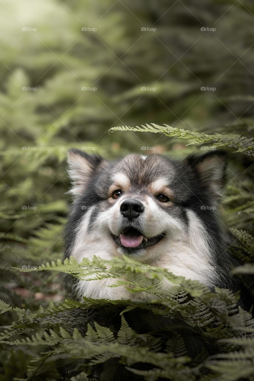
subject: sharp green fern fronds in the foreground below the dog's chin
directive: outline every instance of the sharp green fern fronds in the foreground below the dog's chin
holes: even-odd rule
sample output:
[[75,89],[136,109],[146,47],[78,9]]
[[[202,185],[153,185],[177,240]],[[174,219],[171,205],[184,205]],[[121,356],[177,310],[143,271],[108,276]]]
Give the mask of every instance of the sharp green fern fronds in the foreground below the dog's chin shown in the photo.
[[[201,283],[165,269],[143,269],[139,262],[125,256],[106,262],[94,257],[81,263],[71,257],[63,264],[58,260],[25,271],[65,272],[86,280],[113,277],[116,287],[117,280],[119,285],[126,280],[128,289],[133,286],[135,292],[145,290],[151,295],[149,302],[84,298],[80,303],[66,299],[59,306],[51,303],[47,309],[40,307],[33,313],[1,301],[2,313],[17,315],[11,326],[4,327],[1,342],[43,348],[28,368],[27,381],[42,374],[46,377],[51,369],[57,369],[58,377],[66,377],[74,363],[78,364],[77,374],[89,376],[100,364],[106,367],[111,361],[133,377],[154,380],[197,376],[205,380],[207,371],[211,380],[237,380],[239,375],[249,377],[253,373],[254,319],[237,305],[238,296],[230,290],[217,288],[213,293]],[[174,284],[170,292],[160,286],[165,279]],[[128,321],[133,317],[144,316],[164,324],[152,332],[130,327]],[[201,343],[198,350],[188,342],[190,332]],[[204,348],[208,351],[210,346],[214,354],[209,356]],[[110,367],[105,369],[107,374]]]

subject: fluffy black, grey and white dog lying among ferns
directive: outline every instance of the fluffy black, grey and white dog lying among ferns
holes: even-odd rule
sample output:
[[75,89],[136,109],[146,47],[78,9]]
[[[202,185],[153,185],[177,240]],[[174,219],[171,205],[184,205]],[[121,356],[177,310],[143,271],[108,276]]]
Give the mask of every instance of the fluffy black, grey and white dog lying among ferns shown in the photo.
[[[227,153],[209,151],[184,160],[129,154],[116,161],[71,149],[74,196],[64,258],[127,255],[143,266],[168,269],[211,290],[231,287],[230,239],[220,216]],[[79,280],[75,293],[94,299],[148,300],[114,279]],[[163,287],[169,288],[169,282]]]

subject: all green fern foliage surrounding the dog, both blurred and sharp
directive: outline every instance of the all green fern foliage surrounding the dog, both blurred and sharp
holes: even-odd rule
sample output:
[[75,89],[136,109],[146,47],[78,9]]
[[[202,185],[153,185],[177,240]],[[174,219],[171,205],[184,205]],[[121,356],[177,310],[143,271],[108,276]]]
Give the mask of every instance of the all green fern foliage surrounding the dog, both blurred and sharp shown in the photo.
[[[238,293],[128,258],[61,262],[69,148],[182,160],[224,147],[221,224],[232,274],[254,296],[254,6],[94,3],[0,2],[0,381],[254,381],[252,311]],[[111,277],[150,301],[80,303],[59,272]]]

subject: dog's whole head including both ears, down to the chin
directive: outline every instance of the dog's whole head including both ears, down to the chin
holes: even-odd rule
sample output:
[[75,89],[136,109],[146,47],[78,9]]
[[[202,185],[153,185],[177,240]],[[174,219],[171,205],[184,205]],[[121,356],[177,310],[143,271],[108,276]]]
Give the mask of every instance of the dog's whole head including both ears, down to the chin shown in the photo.
[[107,252],[154,259],[172,242],[208,250],[206,226],[222,190],[225,152],[182,162],[157,154],[107,162],[73,149],[69,165],[77,258]]

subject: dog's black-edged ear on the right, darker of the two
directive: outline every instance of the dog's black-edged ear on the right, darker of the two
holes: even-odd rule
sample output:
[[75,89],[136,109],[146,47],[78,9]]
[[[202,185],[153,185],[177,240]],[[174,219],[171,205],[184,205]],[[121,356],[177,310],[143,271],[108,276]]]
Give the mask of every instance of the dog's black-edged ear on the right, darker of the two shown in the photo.
[[201,182],[214,198],[220,197],[226,181],[227,152],[217,150],[204,155],[190,155],[187,158],[191,167],[197,171]]

